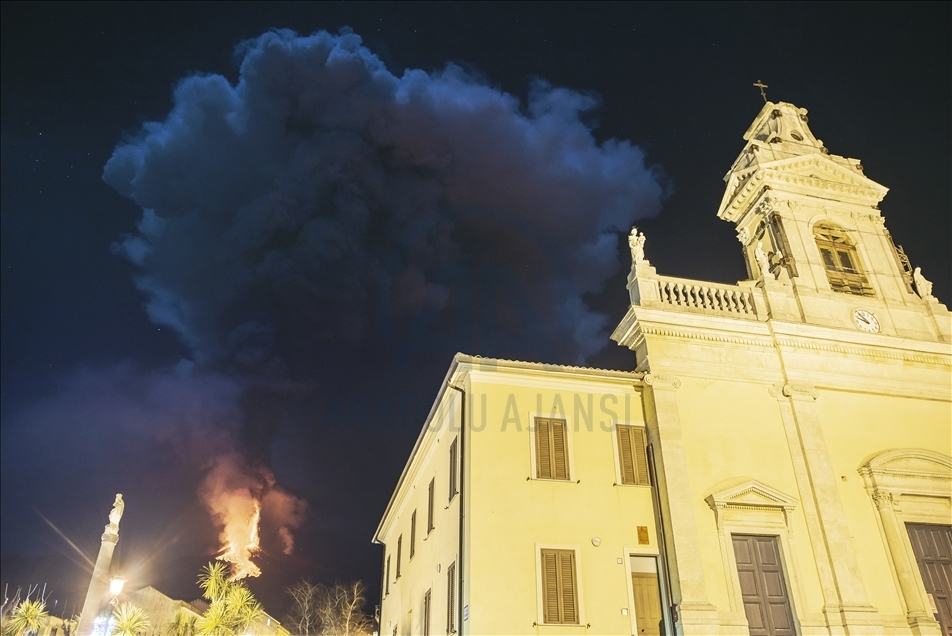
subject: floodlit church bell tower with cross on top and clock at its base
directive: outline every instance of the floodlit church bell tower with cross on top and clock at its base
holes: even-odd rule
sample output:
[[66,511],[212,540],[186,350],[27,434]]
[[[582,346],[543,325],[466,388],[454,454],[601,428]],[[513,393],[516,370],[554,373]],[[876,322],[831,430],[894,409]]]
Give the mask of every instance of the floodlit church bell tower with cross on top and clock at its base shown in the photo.
[[946,308],[886,229],[888,188],[858,159],[830,154],[786,102],[765,103],[744,140],[717,215],[737,228],[771,318],[952,341]]

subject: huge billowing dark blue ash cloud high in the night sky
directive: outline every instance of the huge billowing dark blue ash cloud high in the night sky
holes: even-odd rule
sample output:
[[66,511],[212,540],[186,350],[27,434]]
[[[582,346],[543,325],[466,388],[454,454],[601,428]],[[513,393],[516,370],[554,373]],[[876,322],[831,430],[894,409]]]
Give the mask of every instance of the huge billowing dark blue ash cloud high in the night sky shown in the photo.
[[466,311],[458,274],[480,267],[560,356],[604,346],[583,296],[662,188],[640,149],[595,140],[594,96],[535,80],[523,106],[452,64],[398,77],[347,32],[266,33],[238,54],[237,84],[183,79],[103,175],[144,210],[116,249],[149,316],[197,361],[284,370],[301,343]]

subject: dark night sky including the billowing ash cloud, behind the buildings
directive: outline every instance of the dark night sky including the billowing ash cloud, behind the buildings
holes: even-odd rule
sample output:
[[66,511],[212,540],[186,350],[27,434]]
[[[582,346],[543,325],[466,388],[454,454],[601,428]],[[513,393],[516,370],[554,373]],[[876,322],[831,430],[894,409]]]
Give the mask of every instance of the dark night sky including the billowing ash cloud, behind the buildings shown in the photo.
[[272,502],[269,608],[299,576],[375,590],[371,535],[453,353],[630,369],[607,333],[637,219],[659,273],[746,277],[716,209],[758,79],[891,189],[949,302],[950,17],[4,3],[3,582],[78,596],[44,518],[95,558],[122,492],[121,566],[193,594],[214,485]]

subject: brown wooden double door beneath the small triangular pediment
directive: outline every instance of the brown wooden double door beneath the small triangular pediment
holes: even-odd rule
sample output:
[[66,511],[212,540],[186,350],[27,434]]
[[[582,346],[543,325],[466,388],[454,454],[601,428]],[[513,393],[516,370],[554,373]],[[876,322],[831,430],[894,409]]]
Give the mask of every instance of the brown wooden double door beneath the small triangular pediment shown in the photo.
[[750,636],[796,636],[777,537],[732,535]]

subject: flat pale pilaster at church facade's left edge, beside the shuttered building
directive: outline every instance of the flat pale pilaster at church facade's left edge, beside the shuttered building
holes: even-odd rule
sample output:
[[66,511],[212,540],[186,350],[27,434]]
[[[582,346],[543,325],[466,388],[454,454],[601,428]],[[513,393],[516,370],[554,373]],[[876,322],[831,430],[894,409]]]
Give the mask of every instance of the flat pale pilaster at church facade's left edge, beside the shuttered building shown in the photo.
[[644,383],[649,441],[657,444],[658,493],[665,517],[665,541],[674,598],[678,605],[679,634],[720,632],[717,608],[707,598],[701,547],[694,515],[691,480],[681,417],[678,413],[678,378],[647,374]]

